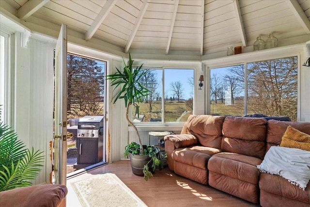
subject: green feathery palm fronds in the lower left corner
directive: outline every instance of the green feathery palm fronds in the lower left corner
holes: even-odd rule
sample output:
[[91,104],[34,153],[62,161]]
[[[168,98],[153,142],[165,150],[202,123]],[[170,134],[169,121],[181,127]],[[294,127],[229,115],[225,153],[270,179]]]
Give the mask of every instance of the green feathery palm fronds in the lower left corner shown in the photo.
[[[1,120],[0,110],[0,191],[31,186],[42,169],[45,156],[39,150],[25,148],[17,134]],[[18,196],[18,195],[16,195]]]

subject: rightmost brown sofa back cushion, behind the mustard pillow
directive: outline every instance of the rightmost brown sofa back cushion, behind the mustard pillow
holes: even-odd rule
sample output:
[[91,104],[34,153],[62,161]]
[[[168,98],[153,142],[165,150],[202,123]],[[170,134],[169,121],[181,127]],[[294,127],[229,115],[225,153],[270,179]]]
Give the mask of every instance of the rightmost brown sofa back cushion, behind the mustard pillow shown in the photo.
[[278,146],[288,126],[291,126],[301,132],[310,134],[310,122],[283,122],[277,120],[268,120],[266,152],[271,146]]

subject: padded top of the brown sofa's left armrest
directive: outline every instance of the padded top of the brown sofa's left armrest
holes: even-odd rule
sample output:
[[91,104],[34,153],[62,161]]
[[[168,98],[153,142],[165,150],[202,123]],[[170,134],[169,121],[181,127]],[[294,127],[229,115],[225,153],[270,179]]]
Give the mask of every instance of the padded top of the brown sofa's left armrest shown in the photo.
[[192,134],[174,134],[164,137],[164,141],[169,140],[175,148],[191,146],[198,143],[197,138]]

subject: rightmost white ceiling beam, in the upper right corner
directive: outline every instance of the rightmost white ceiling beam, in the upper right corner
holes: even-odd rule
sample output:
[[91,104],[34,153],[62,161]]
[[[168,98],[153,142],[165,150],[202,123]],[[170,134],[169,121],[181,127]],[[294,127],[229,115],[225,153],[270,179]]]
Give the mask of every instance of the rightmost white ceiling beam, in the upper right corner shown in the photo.
[[296,0],[288,0],[286,1],[289,7],[291,8],[292,12],[294,13],[294,16],[297,17],[298,21],[302,25],[302,27],[305,29],[307,34],[310,33],[310,20],[306,16],[304,10],[299,5],[298,1]]

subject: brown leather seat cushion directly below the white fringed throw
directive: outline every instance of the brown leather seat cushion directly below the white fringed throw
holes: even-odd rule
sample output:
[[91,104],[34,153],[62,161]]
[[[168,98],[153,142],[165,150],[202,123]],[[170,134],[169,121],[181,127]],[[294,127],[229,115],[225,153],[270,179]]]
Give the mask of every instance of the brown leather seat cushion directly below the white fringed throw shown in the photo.
[[[298,201],[307,203],[308,205],[310,204],[310,184],[309,183],[305,191],[303,191],[302,189],[299,189],[298,186],[292,185],[291,183],[287,182],[286,179],[284,179],[283,177],[279,175],[270,175],[267,173],[261,173],[259,187],[261,191],[266,191],[268,193],[279,195],[285,198],[298,200]],[[262,200],[266,200],[266,199],[261,198],[261,201]],[[285,205],[289,206],[287,203]],[[273,206],[282,206],[282,205],[273,204]]]

